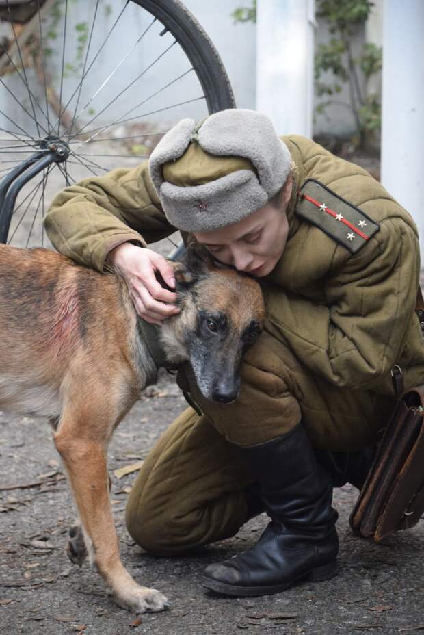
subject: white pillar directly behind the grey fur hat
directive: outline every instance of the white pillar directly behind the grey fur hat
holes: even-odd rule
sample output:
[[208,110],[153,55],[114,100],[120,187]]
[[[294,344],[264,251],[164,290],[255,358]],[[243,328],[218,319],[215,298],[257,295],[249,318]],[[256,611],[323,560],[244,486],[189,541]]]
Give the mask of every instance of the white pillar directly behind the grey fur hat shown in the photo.
[[315,0],[257,0],[256,109],[278,134],[313,133]]

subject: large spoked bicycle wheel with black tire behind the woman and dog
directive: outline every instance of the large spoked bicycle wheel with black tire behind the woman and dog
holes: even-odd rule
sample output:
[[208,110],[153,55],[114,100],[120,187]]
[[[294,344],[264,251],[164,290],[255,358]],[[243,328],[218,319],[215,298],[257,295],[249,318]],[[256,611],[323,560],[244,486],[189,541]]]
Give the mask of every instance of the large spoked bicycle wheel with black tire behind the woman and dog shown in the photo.
[[2,242],[49,246],[42,218],[62,187],[136,166],[185,116],[235,107],[178,0],[0,0],[0,16]]

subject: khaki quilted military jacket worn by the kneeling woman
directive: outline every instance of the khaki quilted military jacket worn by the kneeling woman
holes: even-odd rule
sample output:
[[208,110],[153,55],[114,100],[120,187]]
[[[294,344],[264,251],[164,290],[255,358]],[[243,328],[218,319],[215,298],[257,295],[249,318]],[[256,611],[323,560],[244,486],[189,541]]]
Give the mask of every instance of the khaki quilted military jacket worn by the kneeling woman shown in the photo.
[[[406,387],[424,383],[424,344],[414,313],[419,244],[411,216],[362,168],[304,137],[282,140],[295,164],[295,187],[287,246],[262,281],[266,330],[334,386],[391,395],[395,364]],[[306,208],[299,191],[308,179],[329,188],[331,218],[317,205],[323,202],[319,188],[315,204],[301,213]],[[358,229],[369,231],[367,240],[342,226],[339,213],[351,224],[365,221]],[[45,228],[59,252],[98,271],[118,244],[146,246],[174,231],[147,162],[67,187],[53,200]]]

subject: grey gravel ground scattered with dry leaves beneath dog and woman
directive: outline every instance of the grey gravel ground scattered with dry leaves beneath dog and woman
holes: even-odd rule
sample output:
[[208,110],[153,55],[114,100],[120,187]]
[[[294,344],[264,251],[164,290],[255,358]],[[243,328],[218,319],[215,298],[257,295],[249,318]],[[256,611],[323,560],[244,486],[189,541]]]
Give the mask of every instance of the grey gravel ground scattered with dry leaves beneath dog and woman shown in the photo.
[[[377,161],[366,160],[365,167],[377,175]],[[62,183],[52,181],[49,187],[51,195]],[[170,244],[163,242],[157,248],[168,252]],[[74,511],[47,423],[0,413],[0,488],[43,482],[0,491],[1,633],[424,632],[424,523],[381,545],[354,538],[347,522],[357,495],[353,487],[334,491],[340,514],[339,575],[319,584],[299,584],[280,595],[230,599],[200,586],[202,571],[210,562],[254,544],[267,523],[265,515],[250,521],[233,539],[196,556],[153,558],[134,545],[124,526],[124,507],[135,474],[118,479],[114,470],[144,458],[184,407],[174,380],[161,374],[159,383],[144,392],[122,422],[109,452],[122,560],[137,580],[159,588],[172,601],[171,610],[146,614],[140,623],[114,604],[88,565],[79,569],[66,558]]]

